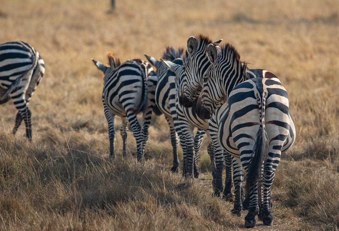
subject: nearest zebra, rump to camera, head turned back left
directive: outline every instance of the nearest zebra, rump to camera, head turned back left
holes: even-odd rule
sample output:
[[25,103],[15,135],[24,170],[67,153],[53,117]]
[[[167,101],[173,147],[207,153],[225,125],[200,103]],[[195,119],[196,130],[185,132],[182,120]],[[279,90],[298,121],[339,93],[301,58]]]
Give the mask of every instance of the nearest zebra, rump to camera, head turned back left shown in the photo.
[[264,225],[273,225],[271,187],[275,170],[296,135],[288,94],[273,73],[247,70],[231,44],[209,44],[206,53],[211,66],[203,76],[196,113],[202,119],[210,119],[215,113],[220,143],[232,155],[236,185],[232,213],[240,216],[242,210],[243,167],[247,176],[245,227],[255,226],[257,214]]

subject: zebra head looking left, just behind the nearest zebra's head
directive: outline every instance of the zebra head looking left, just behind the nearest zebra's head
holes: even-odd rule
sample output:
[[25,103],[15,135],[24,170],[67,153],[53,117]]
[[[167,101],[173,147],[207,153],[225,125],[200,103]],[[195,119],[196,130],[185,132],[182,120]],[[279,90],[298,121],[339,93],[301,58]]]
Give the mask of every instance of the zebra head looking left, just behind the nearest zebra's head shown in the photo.
[[185,108],[193,106],[194,100],[202,90],[202,75],[210,66],[205,55],[208,44],[218,45],[221,41],[222,39],[213,43],[210,38],[202,34],[199,34],[197,38],[191,36],[187,40],[187,57],[183,67],[183,88],[179,97],[179,103]]

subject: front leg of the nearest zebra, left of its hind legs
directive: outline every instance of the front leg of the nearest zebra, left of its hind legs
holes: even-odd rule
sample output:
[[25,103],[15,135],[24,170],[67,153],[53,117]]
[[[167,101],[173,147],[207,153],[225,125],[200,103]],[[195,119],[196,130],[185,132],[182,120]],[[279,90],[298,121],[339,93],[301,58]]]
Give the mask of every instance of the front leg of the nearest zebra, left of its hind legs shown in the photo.
[[241,215],[242,210],[242,199],[241,199],[241,185],[243,180],[243,173],[242,173],[242,165],[240,162],[240,159],[237,157],[232,156],[232,162],[233,162],[233,181],[234,181],[234,206],[231,210],[231,213],[236,214],[238,216]]

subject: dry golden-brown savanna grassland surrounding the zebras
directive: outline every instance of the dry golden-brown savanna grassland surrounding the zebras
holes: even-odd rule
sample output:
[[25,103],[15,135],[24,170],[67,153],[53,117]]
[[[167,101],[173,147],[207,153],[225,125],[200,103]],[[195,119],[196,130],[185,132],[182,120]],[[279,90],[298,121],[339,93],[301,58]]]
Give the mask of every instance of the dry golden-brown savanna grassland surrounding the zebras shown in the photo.
[[[118,157],[108,158],[103,74],[91,58],[106,63],[110,50],[123,61],[157,58],[198,33],[231,42],[250,68],[275,73],[290,96],[297,139],[276,173],[275,226],[255,229],[338,229],[337,0],[117,0],[109,9],[108,0],[0,0],[0,43],[26,41],[46,65],[29,105],[32,144],[23,125],[11,135],[13,103],[0,107],[0,230],[243,229],[243,215],[211,197],[206,143],[200,179],[169,172],[163,116],[153,118],[143,164],[121,158],[116,118]],[[132,132],[128,148],[136,151]]]

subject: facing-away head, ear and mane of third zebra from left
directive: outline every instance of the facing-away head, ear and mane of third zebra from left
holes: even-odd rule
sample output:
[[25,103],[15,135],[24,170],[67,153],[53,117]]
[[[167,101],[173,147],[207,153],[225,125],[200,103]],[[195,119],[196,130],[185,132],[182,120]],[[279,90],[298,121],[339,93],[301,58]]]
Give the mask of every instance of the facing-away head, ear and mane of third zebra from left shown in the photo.
[[[181,48],[181,47],[179,47],[178,49],[175,49],[174,47],[166,47],[166,50],[164,51],[164,53],[162,55],[162,59],[168,60],[168,61],[174,61],[176,59],[181,59],[183,54],[184,54],[184,49]],[[147,61],[157,69],[155,73],[158,77],[162,73],[167,71],[167,67],[161,61],[156,60],[152,56],[148,56],[146,54],[144,54],[144,55],[145,55]]]

